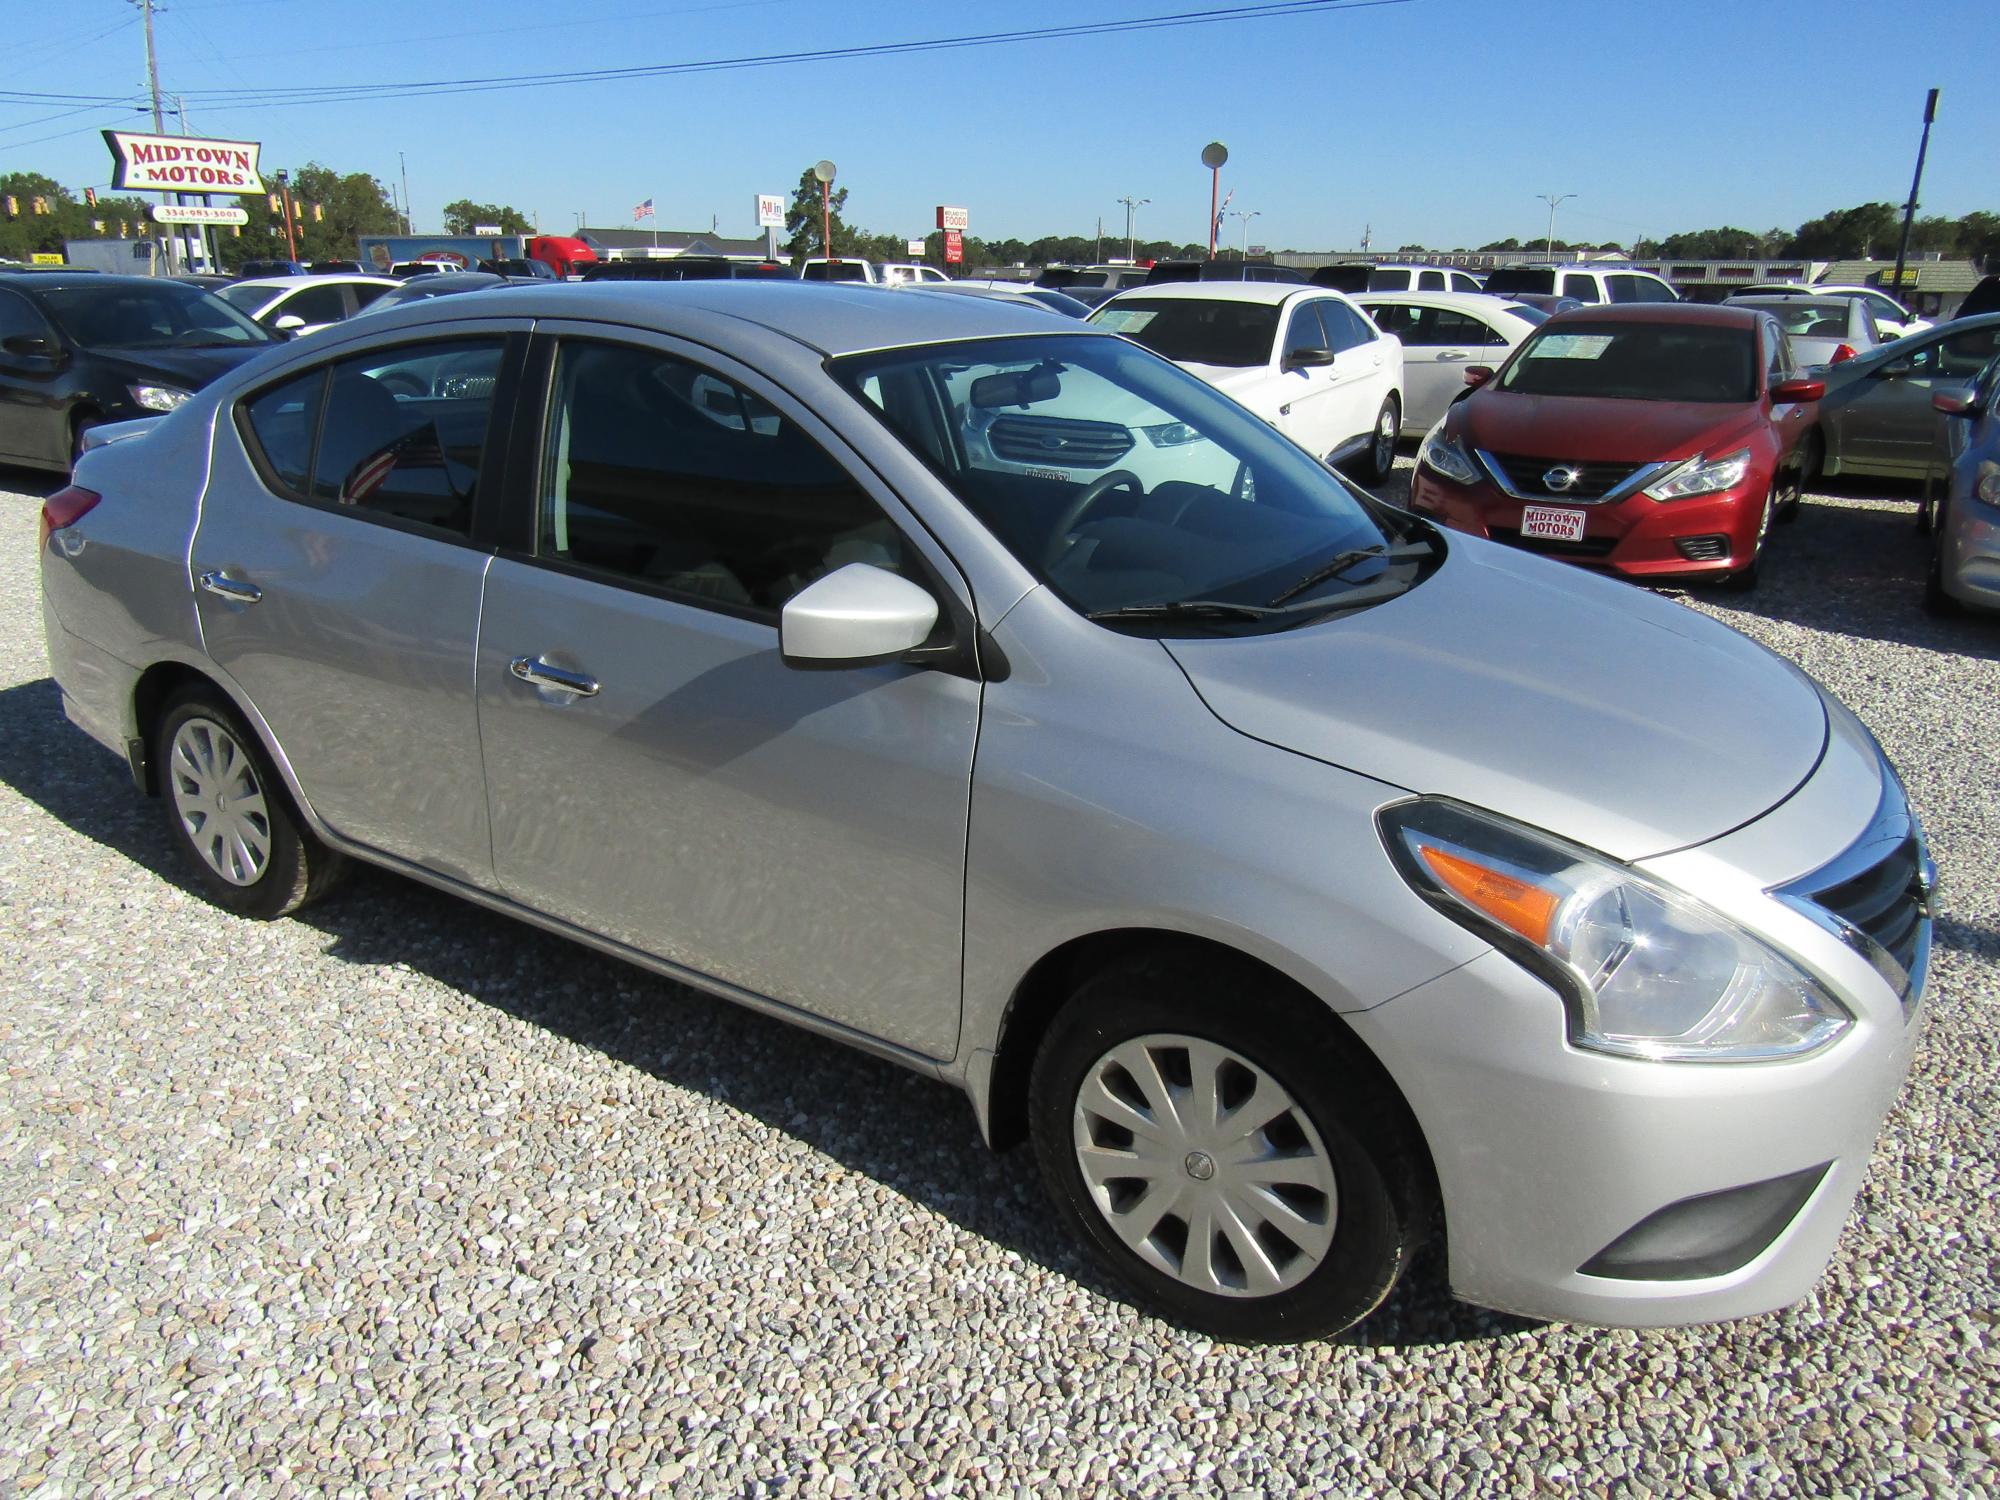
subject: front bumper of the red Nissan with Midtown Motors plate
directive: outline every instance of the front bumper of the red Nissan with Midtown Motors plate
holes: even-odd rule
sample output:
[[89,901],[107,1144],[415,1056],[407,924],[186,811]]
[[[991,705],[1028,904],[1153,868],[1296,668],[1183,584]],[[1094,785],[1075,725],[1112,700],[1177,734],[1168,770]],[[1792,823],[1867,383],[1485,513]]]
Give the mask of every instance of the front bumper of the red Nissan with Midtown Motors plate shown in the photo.
[[[1410,508],[1456,532],[1486,536],[1542,556],[1562,558],[1622,578],[1720,578],[1750,566],[1770,474],[1752,470],[1742,484],[1690,500],[1648,500],[1634,494],[1608,504],[1564,504],[1558,498],[1516,500],[1490,482],[1454,484],[1428,466],[1410,482]],[[1522,510],[1546,504],[1584,512],[1582,542],[1522,536]],[[1722,538],[1720,546],[1704,538]],[[1682,542],[1696,544],[1690,556]],[[1708,554],[1716,556],[1708,556]]]

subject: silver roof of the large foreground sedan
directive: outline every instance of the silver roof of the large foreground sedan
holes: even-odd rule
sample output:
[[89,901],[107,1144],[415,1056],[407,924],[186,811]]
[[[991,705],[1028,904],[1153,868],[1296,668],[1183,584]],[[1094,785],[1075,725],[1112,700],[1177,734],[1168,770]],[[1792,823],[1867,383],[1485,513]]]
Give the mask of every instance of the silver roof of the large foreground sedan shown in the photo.
[[[482,292],[478,316],[594,318],[676,332],[676,310],[738,318],[784,334],[826,356],[936,344],[954,338],[1022,334],[1022,310],[1006,298],[922,296],[914,288],[846,286],[840,282],[536,282]],[[424,310],[422,302],[370,316],[374,328],[418,326],[456,318],[460,310]],[[1036,322],[1042,322],[1036,318]],[[1062,334],[1112,338],[1078,320]]]

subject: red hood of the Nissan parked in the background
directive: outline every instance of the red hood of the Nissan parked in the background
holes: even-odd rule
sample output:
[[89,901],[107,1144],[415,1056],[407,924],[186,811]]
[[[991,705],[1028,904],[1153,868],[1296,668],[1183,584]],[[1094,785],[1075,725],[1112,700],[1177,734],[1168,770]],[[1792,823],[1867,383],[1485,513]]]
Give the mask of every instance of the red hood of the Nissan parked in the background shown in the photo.
[[1688,458],[1762,422],[1754,404],[1638,402],[1598,396],[1522,396],[1482,390],[1450,412],[1452,436],[1500,454],[1592,464]]

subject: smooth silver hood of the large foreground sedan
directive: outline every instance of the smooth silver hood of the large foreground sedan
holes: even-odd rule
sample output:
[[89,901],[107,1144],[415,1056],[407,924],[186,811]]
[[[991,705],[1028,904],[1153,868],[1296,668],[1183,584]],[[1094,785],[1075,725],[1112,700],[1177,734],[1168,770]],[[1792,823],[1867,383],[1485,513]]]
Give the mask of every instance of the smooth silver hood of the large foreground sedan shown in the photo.
[[1162,644],[1254,740],[1620,860],[1716,838],[1812,774],[1826,708],[1762,646],[1630,584],[1448,546],[1424,584],[1370,610]]

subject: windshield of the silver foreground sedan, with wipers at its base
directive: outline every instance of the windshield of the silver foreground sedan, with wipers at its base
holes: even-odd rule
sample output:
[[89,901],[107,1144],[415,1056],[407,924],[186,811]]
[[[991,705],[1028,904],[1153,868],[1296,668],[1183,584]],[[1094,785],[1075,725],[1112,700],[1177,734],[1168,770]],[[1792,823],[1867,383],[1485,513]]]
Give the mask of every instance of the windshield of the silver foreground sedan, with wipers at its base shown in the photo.
[[1120,338],[932,344],[830,368],[1082,614],[1284,628],[1402,592],[1422,566],[1414,554],[1442,546]]

